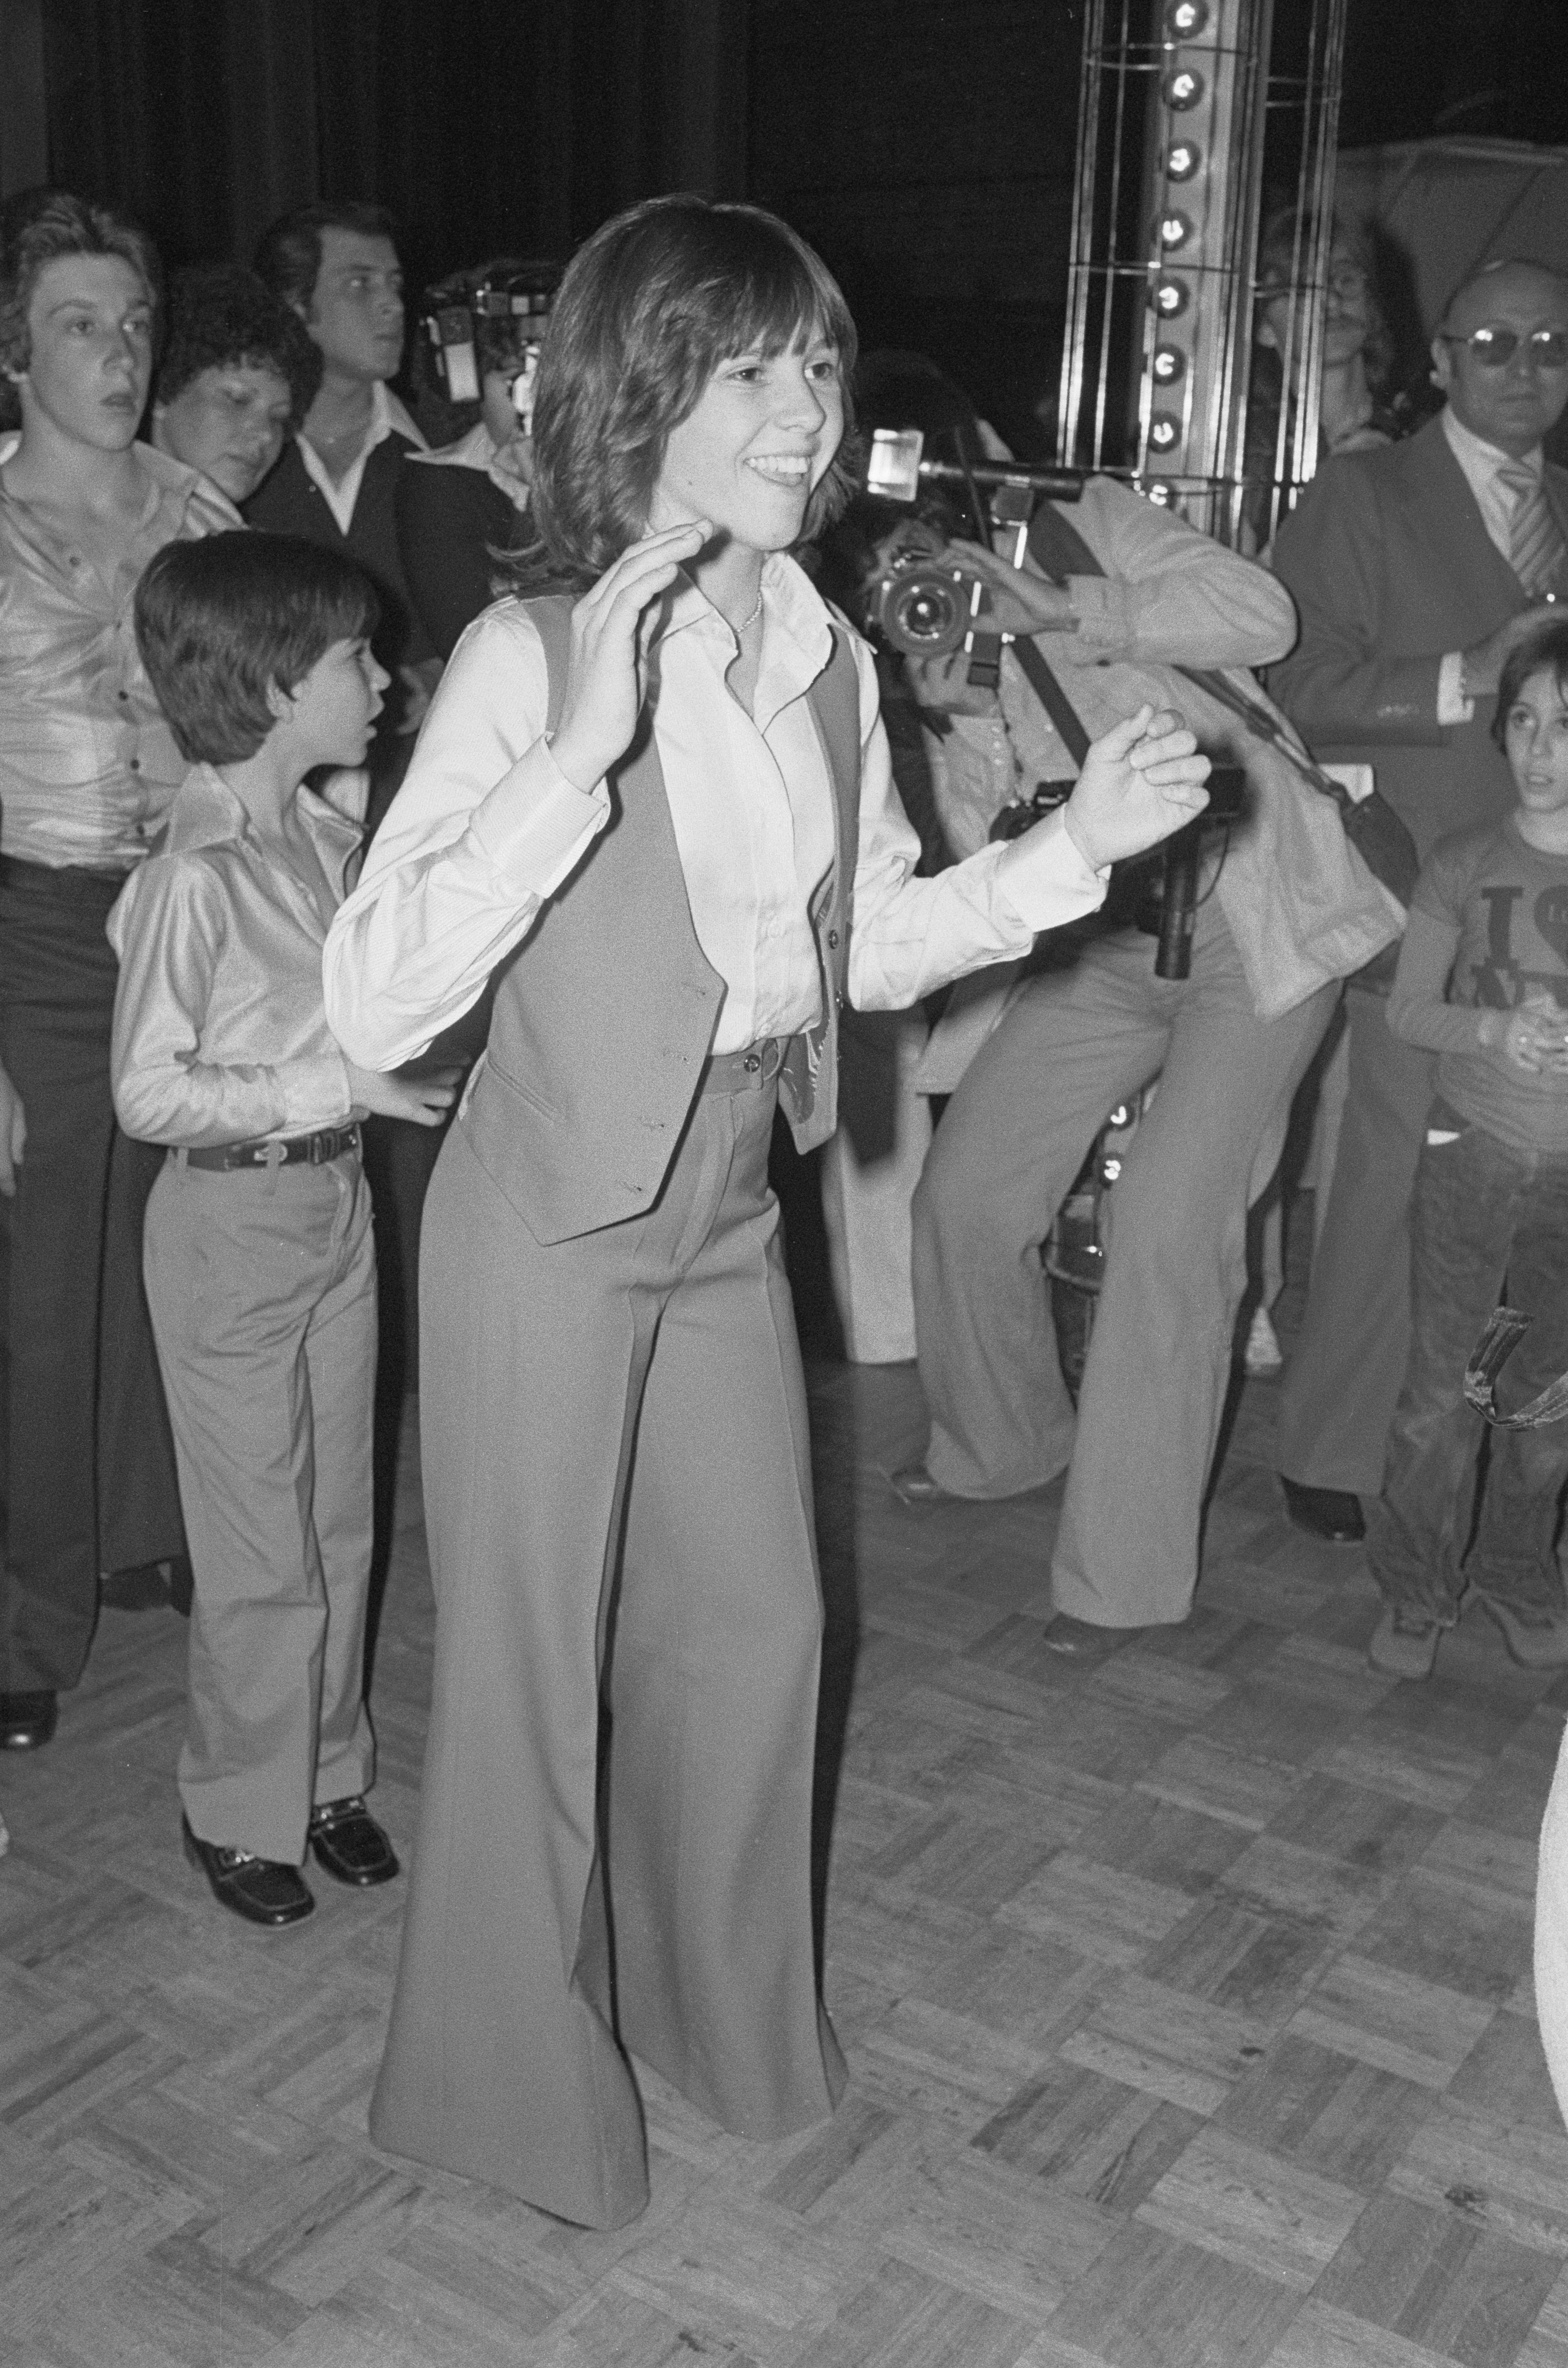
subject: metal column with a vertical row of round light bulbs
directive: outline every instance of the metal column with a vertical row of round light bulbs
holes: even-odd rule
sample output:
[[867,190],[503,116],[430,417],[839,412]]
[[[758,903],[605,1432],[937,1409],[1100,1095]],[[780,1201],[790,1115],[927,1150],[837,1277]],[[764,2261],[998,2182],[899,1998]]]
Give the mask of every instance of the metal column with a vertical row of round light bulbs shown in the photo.
[[[1317,459],[1345,0],[1312,0],[1270,81],[1274,0],[1090,0],[1059,459],[1244,535],[1265,168],[1293,208],[1286,398],[1267,523]],[[1267,149],[1267,159],[1265,159]]]

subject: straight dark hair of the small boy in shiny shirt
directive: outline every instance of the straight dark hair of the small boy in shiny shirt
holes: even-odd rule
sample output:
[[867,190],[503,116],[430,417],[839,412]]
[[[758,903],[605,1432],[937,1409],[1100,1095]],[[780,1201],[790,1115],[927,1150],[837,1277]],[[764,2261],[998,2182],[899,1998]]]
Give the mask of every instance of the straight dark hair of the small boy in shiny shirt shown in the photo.
[[166,542],[135,587],[135,642],[189,765],[242,765],[334,642],[369,639],[381,609],[369,578],[303,535]]

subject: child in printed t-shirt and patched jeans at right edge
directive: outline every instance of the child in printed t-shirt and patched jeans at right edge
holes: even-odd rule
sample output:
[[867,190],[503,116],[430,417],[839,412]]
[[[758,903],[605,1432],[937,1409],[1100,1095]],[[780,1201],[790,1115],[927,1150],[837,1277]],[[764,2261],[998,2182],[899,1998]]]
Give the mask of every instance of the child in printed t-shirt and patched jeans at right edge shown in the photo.
[[1371,1508],[1383,1617],[1371,1665],[1431,1677],[1466,1589],[1528,1669],[1568,1665],[1554,1551],[1568,1423],[1492,1430],[1466,1558],[1483,1418],[1464,1369],[1506,1293],[1530,1317],[1509,1364],[1535,1397],[1568,1366],[1568,623],[1506,661],[1492,732],[1518,807],[1428,855],[1388,1025],[1438,1061],[1412,1203],[1412,1347]]

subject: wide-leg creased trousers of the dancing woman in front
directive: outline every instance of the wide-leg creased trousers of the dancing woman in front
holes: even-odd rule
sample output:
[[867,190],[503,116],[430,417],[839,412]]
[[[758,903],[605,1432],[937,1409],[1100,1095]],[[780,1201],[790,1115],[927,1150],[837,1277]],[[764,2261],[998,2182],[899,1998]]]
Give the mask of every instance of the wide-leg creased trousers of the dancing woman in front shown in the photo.
[[630,2055],[753,2138],[843,2086],[772,1108],[699,1099],[647,1217],[550,1246],[460,1122],[424,1215],[436,1677],[369,2126],[597,2228],[647,2200]]

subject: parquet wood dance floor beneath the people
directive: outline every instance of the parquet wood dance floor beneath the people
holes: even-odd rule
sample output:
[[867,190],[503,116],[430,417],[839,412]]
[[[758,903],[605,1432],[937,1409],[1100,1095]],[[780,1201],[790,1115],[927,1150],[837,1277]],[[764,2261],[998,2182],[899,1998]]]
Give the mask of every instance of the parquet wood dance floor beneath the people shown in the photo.
[[[400,1885],[294,1935],[178,1847],[185,1629],[107,1613],[0,1762],[5,2368],[1568,2368],[1568,2136],[1530,2006],[1568,1684],[1374,1594],[1270,1480],[1251,1383],[1182,1629],[1047,1620],[1054,1492],[910,1513],[907,1366],[812,1376],[827,1994],[779,2145],[649,2091],[618,2235],[374,2150]],[[1068,1646],[1080,1643],[1080,1650]],[[407,1845],[431,1598],[405,1459],[374,1714]],[[836,1776],[836,1790],[834,1790]],[[824,1819],[827,1823],[827,1819]]]

